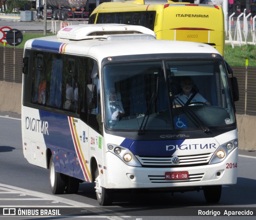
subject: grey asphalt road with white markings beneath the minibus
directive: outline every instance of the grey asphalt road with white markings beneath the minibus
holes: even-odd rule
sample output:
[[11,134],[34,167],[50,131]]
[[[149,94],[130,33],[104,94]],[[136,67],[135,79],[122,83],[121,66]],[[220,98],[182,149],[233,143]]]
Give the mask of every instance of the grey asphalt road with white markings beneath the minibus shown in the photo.
[[[77,194],[52,195],[49,187],[49,171],[29,164],[22,152],[20,115],[0,112],[0,207],[55,207],[69,210],[70,220],[78,210],[93,212],[91,219],[111,220],[197,220],[197,219],[254,219],[250,217],[227,216],[191,216],[180,215],[190,209],[204,208],[232,210],[250,209],[256,207],[256,152],[239,151],[238,182],[236,185],[223,186],[222,197],[218,204],[207,204],[202,191],[187,193],[125,193],[115,194],[111,207],[99,207],[92,183],[80,184]],[[71,210],[70,210],[71,208]],[[103,216],[110,210],[110,216]],[[116,214],[116,212],[121,212]],[[255,211],[256,212],[256,211]],[[80,216],[81,217],[81,216]],[[3,219],[0,217],[0,219]],[[4,218],[12,219],[12,218]],[[17,216],[13,219],[30,219]],[[34,218],[32,218],[34,219]],[[52,219],[52,218],[45,218]],[[86,219],[90,219],[86,217]]]

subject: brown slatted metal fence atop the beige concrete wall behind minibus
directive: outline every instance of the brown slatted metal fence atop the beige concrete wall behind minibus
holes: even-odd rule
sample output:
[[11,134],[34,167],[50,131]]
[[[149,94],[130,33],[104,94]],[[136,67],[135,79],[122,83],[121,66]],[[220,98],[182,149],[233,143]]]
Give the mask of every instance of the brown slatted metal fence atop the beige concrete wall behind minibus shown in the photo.
[[[23,49],[0,47],[0,54],[0,81],[22,83]],[[235,103],[236,113],[256,115],[256,67],[247,67],[247,77],[246,67],[232,69],[238,79],[240,96]]]

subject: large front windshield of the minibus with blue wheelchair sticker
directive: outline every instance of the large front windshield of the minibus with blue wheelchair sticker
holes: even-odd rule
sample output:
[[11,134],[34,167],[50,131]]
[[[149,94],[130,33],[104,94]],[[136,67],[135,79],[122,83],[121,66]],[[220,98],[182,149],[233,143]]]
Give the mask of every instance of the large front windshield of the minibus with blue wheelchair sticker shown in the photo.
[[221,61],[106,64],[103,78],[107,128],[197,130],[235,122]]

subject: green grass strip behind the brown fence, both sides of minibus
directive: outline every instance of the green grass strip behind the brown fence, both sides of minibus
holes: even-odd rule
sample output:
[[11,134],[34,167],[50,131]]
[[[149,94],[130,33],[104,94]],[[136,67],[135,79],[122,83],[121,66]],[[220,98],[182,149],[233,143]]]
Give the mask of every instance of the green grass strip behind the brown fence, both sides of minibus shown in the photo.
[[[47,33],[46,36],[52,36],[54,34]],[[41,32],[25,32],[23,33],[22,43],[16,48],[24,48],[24,44],[27,40],[32,38],[44,37],[44,33]],[[3,44],[0,43],[0,47]],[[6,47],[13,47],[6,45]],[[245,66],[245,60],[248,59],[249,67],[256,67],[256,46],[255,45],[243,45],[242,47],[235,46],[234,49],[231,45],[225,45],[224,58],[230,66],[243,67]]]

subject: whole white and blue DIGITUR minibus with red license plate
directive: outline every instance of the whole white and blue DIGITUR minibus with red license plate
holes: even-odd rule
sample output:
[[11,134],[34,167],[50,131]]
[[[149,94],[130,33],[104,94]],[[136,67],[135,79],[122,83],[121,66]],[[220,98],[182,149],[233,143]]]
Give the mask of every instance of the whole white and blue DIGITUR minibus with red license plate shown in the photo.
[[53,194],[86,181],[102,206],[122,189],[202,190],[218,202],[237,179],[236,100],[210,45],[141,26],[67,26],[24,47],[24,157],[49,169]]

